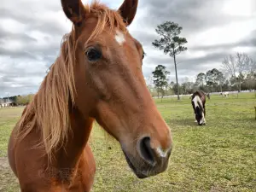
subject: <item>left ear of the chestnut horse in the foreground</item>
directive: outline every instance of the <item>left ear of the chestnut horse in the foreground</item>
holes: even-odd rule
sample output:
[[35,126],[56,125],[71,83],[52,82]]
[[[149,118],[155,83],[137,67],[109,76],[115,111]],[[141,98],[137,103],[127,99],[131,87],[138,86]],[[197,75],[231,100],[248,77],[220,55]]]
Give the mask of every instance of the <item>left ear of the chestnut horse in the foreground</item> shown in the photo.
[[85,18],[84,4],[81,0],[61,0],[62,9],[74,25],[79,25]]

